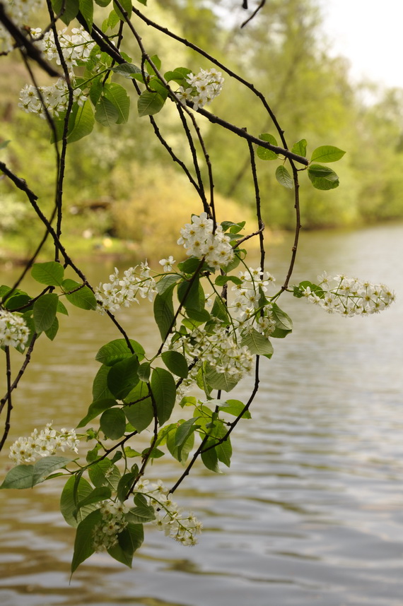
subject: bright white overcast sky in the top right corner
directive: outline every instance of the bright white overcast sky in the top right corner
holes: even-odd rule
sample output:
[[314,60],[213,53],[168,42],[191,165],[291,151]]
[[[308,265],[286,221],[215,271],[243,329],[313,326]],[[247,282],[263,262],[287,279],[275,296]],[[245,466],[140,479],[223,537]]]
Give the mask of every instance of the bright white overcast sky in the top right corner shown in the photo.
[[320,0],[334,54],[351,76],[403,88],[403,1]]

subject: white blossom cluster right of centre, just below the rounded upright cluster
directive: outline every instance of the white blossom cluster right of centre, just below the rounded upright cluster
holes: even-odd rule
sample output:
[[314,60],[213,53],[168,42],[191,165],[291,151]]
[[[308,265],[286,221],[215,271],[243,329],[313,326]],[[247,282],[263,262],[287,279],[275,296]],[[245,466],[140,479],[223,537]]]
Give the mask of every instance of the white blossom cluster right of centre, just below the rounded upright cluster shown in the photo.
[[[239,278],[241,282],[233,285],[231,289],[235,292],[235,299],[229,306],[229,309],[233,309],[235,326],[241,334],[256,328],[268,337],[276,328],[276,323],[271,317],[270,306],[266,304],[262,307],[260,301],[262,295],[267,292],[268,285],[276,280],[269,272],[263,272],[260,267],[250,267],[247,271],[241,271]],[[257,326],[253,326],[255,321]]]

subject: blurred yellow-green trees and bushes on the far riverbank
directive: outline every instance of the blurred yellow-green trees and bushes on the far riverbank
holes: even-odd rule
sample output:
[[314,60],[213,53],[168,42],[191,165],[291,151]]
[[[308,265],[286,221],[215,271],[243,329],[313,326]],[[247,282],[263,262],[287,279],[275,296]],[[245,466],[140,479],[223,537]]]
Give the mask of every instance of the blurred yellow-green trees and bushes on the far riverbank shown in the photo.
[[[141,6],[141,11],[206,49],[261,90],[279,118],[289,145],[306,138],[308,157],[323,144],[347,150],[337,167],[341,181],[338,189],[323,196],[308,184],[308,177],[301,178],[305,229],[402,218],[403,90],[351,84],[349,62],[329,53],[316,0],[271,0],[245,28],[240,28],[245,15],[234,13],[235,4],[240,2],[149,0],[149,6]],[[136,16],[132,20],[148,53],[165,58],[162,71],[177,65],[194,71],[211,67],[196,52],[147,27]],[[42,24],[46,22],[44,11]],[[134,40],[124,50],[134,63],[138,62]],[[54,182],[49,177],[53,174],[54,152],[48,143],[47,124],[18,107],[26,75],[16,54],[3,59],[0,70],[0,143],[11,141],[1,150],[2,159],[25,177],[40,195],[43,210],[49,213],[54,197]],[[42,73],[38,78],[40,83],[47,83]],[[129,85],[127,88],[135,105],[135,91]],[[245,88],[241,90],[228,77],[211,111],[256,136],[261,132],[276,136],[254,95]],[[146,241],[151,256],[160,258],[172,250],[177,226],[189,220],[190,213],[201,210],[194,191],[153,136],[148,119],[135,114],[128,124],[112,130],[95,124],[90,139],[84,138],[69,149],[65,229],[78,249],[80,243],[83,251],[89,251],[94,246],[124,242],[123,250],[141,257]],[[175,153],[186,159],[189,150],[177,135],[176,119],[173,104],[168,104],[157,121]],[[252,208],[254,201],[250,179],[244,178],[247,145],[228,131],[213,128],[202,117],[199,122],[214,165],[218,219],[240,220],[245,207]],[[87,145],[91,145],[93,156],[86,153]],[[276,182],[271,162],[257,162],[264,220],[272,229],[292,229],[292,196]],[[34,229],[30,210],[16,191],[7,189],[6,182],[0,185],[0,249],[3,256],[13,246],[21,254],[29,254],[39,235],[30,232]],[[146,230],[141,227],[144,225]]]

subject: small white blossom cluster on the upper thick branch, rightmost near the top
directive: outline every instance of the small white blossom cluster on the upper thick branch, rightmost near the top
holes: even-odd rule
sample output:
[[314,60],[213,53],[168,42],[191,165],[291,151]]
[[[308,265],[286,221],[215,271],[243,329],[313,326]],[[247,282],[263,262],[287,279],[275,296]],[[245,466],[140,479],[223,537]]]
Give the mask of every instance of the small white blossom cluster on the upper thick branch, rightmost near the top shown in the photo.
[[224,78],[221,71],[215,68],[206,70],[201,69],[199,73],[189,73],[186,77],[189,84],[186,88],[180,86],[177,91],[177,97],[181,101],[189,101],[193,107],[203,107],[206,103],[211,103],[217,97],[223,88]]

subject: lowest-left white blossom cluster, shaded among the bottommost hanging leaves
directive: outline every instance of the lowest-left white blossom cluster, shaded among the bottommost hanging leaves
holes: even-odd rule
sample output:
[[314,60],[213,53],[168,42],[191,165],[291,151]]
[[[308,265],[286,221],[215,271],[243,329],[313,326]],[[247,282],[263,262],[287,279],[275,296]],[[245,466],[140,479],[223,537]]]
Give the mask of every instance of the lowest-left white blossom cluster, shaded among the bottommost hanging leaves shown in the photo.
[[101,521],[93,529],[93,548],[95,552],[115,547],[117,535],[127,526],[125,514],[129,508],[120,502],[103,501],[100,506]]

